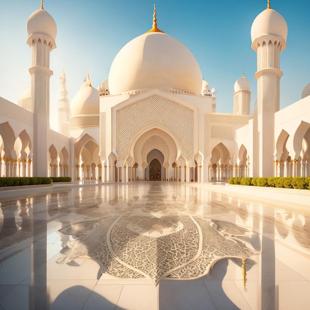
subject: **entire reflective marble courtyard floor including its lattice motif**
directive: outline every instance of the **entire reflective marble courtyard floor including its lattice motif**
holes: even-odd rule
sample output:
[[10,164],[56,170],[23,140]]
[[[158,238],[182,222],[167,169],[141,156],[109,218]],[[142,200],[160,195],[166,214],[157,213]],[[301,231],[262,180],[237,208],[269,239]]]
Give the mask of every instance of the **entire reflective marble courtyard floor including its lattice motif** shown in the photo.
[[309,309],[310,191],[270,190],[1,191],[0,310]]

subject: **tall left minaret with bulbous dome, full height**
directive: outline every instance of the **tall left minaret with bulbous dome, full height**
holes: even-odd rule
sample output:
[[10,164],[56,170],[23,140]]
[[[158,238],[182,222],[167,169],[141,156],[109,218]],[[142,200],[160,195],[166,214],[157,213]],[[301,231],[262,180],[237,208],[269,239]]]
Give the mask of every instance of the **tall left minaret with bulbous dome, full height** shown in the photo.
[[48,174],[47,132],[50,128],[50,52],[56,48],[56,23],[41,9],[33,12],[27,21],[27,44],[31,48],[31,110],[34,112],[33,175]]

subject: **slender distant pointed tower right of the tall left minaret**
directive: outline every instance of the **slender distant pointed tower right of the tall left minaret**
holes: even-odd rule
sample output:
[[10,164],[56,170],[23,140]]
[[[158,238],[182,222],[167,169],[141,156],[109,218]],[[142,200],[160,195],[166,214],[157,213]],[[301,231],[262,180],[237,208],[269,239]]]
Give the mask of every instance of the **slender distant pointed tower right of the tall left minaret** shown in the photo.
[[70,104],[66,86],[66,74],[60,76],[60,99],[58,100],[58,132],[70,137]]

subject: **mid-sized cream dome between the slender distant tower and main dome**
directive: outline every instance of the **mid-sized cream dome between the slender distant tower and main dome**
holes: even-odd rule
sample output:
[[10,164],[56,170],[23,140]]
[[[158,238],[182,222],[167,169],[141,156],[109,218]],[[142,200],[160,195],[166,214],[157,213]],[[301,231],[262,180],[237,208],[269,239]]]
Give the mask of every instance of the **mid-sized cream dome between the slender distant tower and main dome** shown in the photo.
[[92,86],[82,88],[70,104],[71,117],[79,115],[99,115],[99,92]]

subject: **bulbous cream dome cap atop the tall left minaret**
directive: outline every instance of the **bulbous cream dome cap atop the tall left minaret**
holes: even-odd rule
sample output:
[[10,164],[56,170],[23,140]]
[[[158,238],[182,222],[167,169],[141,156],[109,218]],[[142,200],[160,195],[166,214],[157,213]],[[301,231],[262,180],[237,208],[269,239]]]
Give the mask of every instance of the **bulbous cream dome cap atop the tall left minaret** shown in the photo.
[[44,34],[55,41],[57,27],[52,16],[44,9],[34,11],[27,21],[27,34]]

